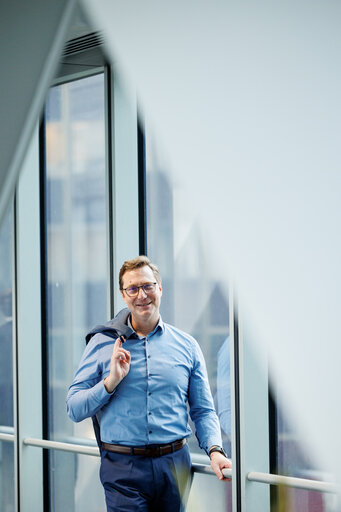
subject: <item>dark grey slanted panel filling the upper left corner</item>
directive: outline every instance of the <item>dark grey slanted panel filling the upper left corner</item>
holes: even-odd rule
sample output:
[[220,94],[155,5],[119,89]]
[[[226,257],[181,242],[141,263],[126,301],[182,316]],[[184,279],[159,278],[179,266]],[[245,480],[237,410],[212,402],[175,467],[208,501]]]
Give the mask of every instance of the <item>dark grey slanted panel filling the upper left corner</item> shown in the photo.
[[76,0],[0,7],[0,222],[58,64]]

